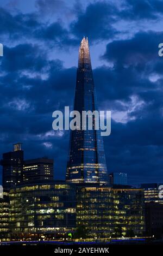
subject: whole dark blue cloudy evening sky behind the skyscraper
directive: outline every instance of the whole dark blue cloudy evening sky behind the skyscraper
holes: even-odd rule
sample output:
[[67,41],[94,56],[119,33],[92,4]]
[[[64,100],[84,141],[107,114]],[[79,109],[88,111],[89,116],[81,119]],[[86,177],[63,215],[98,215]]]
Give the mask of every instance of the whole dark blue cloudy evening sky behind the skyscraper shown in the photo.
[[5,0],[0,3],[0,154],[54,158],[64,178],[68,132],[52,112],[73,105],[78,47],[89,37],[99,108],[111,110],[108,171],[163,182],[162,0]]

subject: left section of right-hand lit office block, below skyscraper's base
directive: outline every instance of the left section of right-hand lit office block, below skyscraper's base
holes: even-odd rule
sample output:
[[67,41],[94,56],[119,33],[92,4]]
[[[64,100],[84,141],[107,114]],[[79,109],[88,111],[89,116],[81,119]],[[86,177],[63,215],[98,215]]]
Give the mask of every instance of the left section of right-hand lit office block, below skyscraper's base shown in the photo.
[[91,238],[110,237],[114,232],[113,190],[111,187],[77,187],[77,229]]

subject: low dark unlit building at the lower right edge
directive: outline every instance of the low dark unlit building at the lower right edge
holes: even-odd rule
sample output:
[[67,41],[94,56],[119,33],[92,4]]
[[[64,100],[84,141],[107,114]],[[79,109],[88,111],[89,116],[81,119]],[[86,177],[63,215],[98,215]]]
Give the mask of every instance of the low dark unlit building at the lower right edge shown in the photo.
[[163,205],[146,203],[146,233],[148,236],[161,238],[163,235]]

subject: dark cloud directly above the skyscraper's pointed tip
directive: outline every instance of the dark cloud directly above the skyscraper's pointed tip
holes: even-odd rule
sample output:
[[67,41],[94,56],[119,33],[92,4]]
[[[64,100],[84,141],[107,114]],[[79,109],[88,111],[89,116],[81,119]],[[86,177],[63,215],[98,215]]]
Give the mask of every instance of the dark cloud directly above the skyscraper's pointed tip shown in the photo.
[[72,22],[71,32],[78,38],[88,36],[92,41],[112,38],[116,34],[111,26],[116,13],[116,7],[108,2],[92,3]]

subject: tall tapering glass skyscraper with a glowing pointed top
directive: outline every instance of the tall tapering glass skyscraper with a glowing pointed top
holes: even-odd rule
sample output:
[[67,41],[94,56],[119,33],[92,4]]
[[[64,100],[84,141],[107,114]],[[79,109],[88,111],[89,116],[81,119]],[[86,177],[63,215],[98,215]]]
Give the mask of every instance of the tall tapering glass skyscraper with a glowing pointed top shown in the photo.
[[[83,38],[79,47],[74,110],[92,112],[97,109],[88,40]],[[108,183],[103,139],[100,130],[72,130],[66,180],[76,183]],[[81,122],[82,123],[82,122]]]

